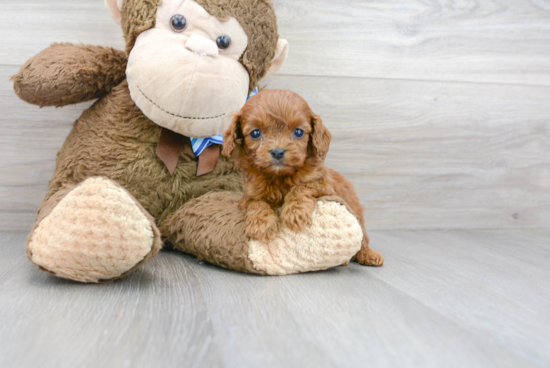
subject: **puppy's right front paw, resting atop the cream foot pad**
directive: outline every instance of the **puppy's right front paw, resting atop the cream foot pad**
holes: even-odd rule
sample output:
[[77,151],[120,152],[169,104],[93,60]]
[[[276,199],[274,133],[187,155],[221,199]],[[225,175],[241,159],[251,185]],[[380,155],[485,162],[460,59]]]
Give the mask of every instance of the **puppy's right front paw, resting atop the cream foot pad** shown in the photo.
[[281,207],[281,220],[290,230],[300,232],[311,223],[317,200],[317,191],[307,187],[293,187]]

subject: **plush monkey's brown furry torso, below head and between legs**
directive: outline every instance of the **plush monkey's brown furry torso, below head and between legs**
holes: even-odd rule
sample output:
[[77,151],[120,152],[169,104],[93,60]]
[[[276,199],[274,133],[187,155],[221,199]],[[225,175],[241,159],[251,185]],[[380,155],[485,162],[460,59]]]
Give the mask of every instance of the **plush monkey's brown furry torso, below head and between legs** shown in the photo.
[[58,154],[46,200],[64,186],[103,176],[126,188],[162,225],[192,198],[242,190],[242,174],[223,158],[213,173],[196,177],[197,161],[188,146],[174,175],[167,175],[155,152],[160,131],[134,104],[127,82],[122,82],[75,122]]

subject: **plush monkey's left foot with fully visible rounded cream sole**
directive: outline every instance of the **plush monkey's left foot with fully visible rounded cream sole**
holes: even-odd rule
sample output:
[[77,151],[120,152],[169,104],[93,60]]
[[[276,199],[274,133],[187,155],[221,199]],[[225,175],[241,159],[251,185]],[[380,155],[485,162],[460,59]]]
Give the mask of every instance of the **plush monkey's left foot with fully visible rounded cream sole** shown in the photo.
[[161,248],[151,215],[101,177],[49,195],[27,239],[29,259],[41,270],[80,282],[121,278]]

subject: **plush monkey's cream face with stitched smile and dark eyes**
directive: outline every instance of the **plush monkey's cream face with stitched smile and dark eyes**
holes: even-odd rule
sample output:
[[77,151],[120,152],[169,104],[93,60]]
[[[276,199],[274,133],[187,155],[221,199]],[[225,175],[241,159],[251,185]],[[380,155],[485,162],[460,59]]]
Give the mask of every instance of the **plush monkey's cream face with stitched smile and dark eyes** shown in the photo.
[[224,132],[246,102],[239,58],[248,37],[235,18],[220,22],[193,0],[164,0],[141,33],[127,69],[130,94],[156,124],[204,138]]

